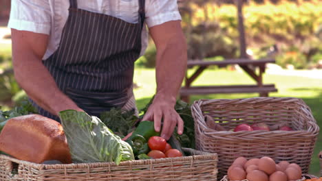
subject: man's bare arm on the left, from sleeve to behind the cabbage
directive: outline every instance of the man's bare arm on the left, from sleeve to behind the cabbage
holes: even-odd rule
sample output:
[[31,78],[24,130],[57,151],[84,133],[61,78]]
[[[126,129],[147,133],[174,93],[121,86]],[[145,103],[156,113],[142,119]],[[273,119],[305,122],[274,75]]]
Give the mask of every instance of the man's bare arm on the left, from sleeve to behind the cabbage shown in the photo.
[[58,115],[61,110],[81,108],[64,95],[41,62],[47,49],[48,35],[11,30],[14,77],[36,104]]

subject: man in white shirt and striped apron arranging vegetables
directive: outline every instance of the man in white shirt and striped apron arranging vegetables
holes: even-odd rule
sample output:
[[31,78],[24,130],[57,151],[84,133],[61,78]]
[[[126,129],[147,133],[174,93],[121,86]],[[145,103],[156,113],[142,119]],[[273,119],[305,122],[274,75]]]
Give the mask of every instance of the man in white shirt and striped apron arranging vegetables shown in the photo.
[[180,19],[174,0],[12,0],[15,77],[39,112],[57,121],[61,110],[97,116],[135,108],[133,63],[147,47],[147,25],[157,90],[143,120],[169,139],[175,126],[183,131],[174,110],[186,71]]

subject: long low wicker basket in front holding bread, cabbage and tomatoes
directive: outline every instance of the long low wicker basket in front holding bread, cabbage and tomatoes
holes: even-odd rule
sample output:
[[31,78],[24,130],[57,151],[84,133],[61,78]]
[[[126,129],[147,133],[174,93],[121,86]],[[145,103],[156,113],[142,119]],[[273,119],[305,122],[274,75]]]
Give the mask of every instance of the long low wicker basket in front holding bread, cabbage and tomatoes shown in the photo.
[[[192,156],[101,162],[89,164],[42,165],[0,156],[0,180],[217,180],[217,154],[184,148]],[[16,174],[14,174],[16,173]]]

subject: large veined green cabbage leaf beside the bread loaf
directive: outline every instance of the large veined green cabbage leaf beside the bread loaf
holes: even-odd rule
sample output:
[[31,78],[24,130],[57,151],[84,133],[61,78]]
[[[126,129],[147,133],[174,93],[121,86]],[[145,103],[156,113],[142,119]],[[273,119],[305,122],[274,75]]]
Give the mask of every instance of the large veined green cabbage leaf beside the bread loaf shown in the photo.
[[116,162],[134,160],[131,146],[111,132],[98,119],[85,112],[59,112],[72,160],[78,162]]

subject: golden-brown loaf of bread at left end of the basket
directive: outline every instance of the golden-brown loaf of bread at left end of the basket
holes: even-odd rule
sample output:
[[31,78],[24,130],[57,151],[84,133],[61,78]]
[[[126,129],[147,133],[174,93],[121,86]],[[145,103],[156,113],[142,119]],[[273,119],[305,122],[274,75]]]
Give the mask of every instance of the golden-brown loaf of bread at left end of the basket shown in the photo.
[[63,126],[39,114],[8,120],[0,134],[0,150],[29,162],[72,163]]

